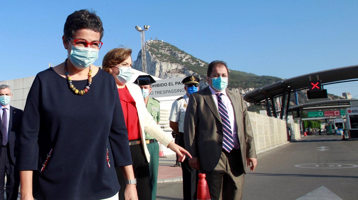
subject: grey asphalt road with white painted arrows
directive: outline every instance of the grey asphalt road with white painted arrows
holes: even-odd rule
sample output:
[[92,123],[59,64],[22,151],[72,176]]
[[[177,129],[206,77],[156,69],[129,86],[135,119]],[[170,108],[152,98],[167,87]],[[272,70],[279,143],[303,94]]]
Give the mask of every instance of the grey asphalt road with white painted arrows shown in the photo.
[[[358,199],[358,141],[305,136],[257,155],[244,200]],[[183,199],[182,182],[158,183],[157,199]]]

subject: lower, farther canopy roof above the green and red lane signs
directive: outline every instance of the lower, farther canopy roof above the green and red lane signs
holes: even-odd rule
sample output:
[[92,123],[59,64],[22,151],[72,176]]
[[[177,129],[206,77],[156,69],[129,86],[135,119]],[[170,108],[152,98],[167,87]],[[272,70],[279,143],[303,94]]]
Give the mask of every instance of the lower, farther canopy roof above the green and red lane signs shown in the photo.
[[[319,109],[318,106],[334,108],[337,106],[349,106],[351,101],[358,101],[358,99],[339,99],[339,100],[329,100],[329,101],[317,101],[312,103],[304,103],[297,106],[292,106],[289,110],[299,110],[301,108],[316,108]],[[333,106],[333,107],[331,107]],[[321,108],[324,109],[324,108]]]

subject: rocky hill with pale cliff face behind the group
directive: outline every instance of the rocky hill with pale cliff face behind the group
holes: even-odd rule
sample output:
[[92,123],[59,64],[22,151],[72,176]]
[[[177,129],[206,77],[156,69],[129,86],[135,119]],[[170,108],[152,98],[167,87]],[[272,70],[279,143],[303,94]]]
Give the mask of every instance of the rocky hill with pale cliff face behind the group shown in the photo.
[[[156,77],[166,78],[178,78],[188,75],[196,75],[202,79],[200,86],[207,85],[206,73],[209,63],[195,58],[183,50],[175,47],[166,42],[160,40],[149,40],[146,42],[146,62],[147,73]],[[133,68],[142,70],[142,52],[138,53],[137,59],[133,62]],[[230,67],[230,66],[229,66]],[[268,84],[280,81],[279,77],[272,76],[258,76],[252,73],[246,73],[242,71],[229,69],[229,85],[228,88],[232,91],[244,94],[250,92],[256,88],[266,86]],[[330,99],[339,99],[338,96],[329,94]],[[308,103],[314,101],[324,101],[327,99],[307,99],[306,92],[299,92],[299,102]],[[291,96],[291,104],[295,103],[294,95]],[[250,105],[250,111],[258,111],[266,109],[262,106]]]

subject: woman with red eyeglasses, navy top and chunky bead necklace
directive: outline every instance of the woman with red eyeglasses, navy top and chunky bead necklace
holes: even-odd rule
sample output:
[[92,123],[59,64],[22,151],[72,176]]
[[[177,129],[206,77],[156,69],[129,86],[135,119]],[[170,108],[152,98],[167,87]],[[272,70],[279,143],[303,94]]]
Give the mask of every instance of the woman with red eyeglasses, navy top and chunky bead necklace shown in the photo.
[[[22,200],[118,200],[117,166],[135,180],[116,82],[92,64],[102,36],[94,12],[75,11],[62,36],[67,58],[36,75],[16,159]],[[137,199],[135,184],[121,186]]]

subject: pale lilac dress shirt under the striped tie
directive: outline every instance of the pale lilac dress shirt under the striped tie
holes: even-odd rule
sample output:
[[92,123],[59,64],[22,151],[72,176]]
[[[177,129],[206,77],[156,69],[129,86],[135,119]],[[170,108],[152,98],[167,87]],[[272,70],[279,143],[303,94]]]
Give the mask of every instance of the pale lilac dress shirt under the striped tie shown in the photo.
[[[230,121],[230,126],[231,126],[231,131],[233,134],[233,140],[234,140],[234,148],[240,148],[240,142],[239,142],[239,138],[237,136],[237,128],[236,128],[236,121],[235,121],[235,115],[234,115],[234,109],[232,107],[232,103],[230,101],[230,98],[227,96],[226,91],[223,90],[221,92],[217,92],[215,91],[211,86],[209,86],[209,89],[211,91],[211,96],[214,99],[216,108],[218,109],[218,97],[215,95],[216,93],[222,93],[223,95],[221,96],[222,101],[225,104],[225,107],[227,109],[227,112],[229,114],[229,121]],[[219,110],[219,109],[218,109]]]

